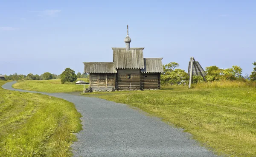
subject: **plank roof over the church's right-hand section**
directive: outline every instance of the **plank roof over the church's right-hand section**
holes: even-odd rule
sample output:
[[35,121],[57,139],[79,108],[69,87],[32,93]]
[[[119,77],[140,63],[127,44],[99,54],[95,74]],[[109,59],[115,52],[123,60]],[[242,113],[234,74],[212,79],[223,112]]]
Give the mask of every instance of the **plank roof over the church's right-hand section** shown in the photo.
[[145,68],[142,73],[163,73],[163,58],[144,58]]

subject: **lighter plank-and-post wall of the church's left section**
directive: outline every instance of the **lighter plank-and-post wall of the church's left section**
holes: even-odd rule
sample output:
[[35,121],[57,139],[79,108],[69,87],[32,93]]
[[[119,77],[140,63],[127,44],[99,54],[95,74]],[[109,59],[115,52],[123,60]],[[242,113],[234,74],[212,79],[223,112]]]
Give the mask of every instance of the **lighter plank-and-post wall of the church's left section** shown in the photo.
[[91,73],[90,87],[115,87],[115,76],[116,74]]

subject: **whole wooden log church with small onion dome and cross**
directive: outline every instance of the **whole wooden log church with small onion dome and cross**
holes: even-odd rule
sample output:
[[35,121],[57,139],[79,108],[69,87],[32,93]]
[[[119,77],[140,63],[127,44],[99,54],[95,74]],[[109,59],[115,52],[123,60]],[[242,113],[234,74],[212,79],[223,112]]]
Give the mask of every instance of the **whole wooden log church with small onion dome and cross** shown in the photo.
[[160,89],[163,58],[144,58],[144,48],[130,48],[130,43],[127,25],[125,48],[112,48],[113,62],[83,62],[90,90]]

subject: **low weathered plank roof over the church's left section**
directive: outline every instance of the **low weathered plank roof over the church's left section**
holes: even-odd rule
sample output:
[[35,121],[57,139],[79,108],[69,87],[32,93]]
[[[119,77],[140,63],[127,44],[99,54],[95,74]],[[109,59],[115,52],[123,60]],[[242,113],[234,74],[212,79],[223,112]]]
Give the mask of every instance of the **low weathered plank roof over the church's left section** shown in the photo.
[[84,73],[117,73],[113,62],[83,62]]

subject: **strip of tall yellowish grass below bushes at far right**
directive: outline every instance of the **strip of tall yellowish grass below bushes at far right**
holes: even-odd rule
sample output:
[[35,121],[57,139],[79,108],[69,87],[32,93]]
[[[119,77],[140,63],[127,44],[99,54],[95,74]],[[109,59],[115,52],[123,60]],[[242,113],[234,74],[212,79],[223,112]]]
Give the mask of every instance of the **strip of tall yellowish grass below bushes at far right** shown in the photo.
[[256,87],[255,81],[212,81],[212,82],[201,82],[193,84],[192,88],[242,88],[242,87]]

